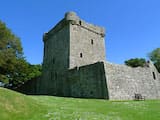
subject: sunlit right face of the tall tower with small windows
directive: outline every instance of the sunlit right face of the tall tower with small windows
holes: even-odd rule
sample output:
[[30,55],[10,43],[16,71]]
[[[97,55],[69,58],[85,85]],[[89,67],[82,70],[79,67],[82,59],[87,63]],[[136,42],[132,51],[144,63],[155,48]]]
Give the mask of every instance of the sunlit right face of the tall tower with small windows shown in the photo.
[[70,24],[70,68],[105,60],[105,30],[80,19]]

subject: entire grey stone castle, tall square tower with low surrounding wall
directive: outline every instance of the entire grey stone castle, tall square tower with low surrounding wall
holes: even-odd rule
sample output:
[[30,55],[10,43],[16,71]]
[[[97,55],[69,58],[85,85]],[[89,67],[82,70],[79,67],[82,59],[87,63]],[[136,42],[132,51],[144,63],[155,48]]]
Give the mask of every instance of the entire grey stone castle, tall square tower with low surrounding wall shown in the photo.
[[76,13],[65,17],[43,36],[42,78],[38,94],[133,99],[160,98],[160,74],[152,63],[131,68],[105,61],[104,28],[86,23]]

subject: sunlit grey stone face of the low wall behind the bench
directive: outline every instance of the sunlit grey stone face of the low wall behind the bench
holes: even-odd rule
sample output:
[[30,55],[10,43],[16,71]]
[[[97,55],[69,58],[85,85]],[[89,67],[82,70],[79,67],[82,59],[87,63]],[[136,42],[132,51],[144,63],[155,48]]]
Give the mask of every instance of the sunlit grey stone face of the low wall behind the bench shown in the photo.
[[134,99],[135,93],[146,99],[160,98],[159,74],[151,63],[148,67],[131,68],[106,62],[105,71],[111,100]]

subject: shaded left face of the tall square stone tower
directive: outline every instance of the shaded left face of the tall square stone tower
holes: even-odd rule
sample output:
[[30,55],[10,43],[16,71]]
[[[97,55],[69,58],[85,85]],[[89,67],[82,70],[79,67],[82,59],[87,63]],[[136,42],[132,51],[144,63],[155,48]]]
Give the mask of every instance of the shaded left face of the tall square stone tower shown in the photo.
[[56,95],[58,76],[69,67],[69,24],[64,21],[49,31],[44,38],[44,47],[42,79],[37,90],[41,94]]

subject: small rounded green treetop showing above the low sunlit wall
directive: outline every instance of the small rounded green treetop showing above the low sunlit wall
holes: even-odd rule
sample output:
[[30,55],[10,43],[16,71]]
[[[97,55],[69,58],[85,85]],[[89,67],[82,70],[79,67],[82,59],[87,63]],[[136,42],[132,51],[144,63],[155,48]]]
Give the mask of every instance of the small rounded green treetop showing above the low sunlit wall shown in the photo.
[[146,60],[144,58],[132,58],[125,61],[125,65],[130,67],[144,67],[146,65]]

